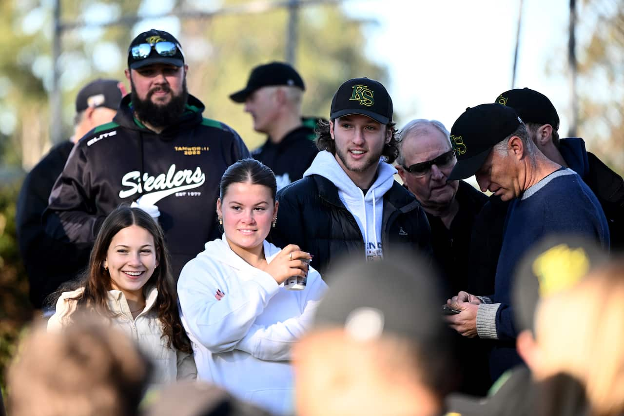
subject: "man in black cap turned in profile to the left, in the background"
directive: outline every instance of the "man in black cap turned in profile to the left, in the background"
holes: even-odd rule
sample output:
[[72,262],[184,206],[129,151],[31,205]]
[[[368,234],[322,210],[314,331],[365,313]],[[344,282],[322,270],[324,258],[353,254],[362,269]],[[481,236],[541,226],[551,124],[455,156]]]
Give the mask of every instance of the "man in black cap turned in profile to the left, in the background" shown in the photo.
[[275,173],[280,190],[303,177],[318,152],[314,145],[316,119],[301,117],[303,79],[285,62],[270,62],[251,70],[245,88],[230,95],[244,102],[253,129],[267,135],[251,156]]

